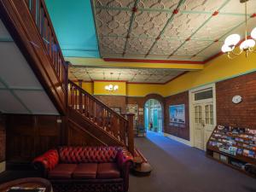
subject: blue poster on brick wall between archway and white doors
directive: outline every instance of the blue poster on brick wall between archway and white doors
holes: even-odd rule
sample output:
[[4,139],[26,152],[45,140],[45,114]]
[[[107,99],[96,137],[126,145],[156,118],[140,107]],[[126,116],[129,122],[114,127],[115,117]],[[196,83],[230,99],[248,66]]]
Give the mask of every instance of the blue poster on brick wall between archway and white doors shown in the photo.
[[185,127],[185,105],[169,106],[170,125],[177,127]]

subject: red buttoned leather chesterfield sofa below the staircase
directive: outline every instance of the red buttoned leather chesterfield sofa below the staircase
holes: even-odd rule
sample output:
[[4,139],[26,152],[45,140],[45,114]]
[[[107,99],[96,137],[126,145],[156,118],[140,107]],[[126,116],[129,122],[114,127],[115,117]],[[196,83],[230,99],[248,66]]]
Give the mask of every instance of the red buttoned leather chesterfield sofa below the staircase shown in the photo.
[[60,147],[32,162],[55,192],[126,192],[131,163],[121,147]]

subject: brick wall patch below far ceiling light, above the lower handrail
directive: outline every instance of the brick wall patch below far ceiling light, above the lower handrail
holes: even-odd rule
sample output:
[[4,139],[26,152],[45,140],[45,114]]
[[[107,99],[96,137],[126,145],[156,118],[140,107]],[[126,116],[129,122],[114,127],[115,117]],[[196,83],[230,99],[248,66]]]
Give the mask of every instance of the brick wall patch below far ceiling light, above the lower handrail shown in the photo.
[[126,112],[126,96],[96,96],[96,98],[109,108],[121,108],[121,113]]

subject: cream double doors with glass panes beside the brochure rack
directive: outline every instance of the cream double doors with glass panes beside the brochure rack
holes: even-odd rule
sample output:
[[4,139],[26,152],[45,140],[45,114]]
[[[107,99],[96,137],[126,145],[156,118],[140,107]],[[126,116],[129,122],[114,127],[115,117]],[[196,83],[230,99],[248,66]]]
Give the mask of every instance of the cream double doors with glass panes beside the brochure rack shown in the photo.
[[206,150],[207,141],[214,129],[213,102],[199,102],[193,105],[195,148]]

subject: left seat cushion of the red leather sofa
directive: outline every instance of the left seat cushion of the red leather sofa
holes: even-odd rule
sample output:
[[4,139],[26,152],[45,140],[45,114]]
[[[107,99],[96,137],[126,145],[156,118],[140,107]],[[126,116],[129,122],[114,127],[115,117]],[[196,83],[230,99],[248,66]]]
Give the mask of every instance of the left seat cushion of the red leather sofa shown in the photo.
[[58,164],[55,168],[49,171],[49,178],[71,178],[73,171],[77,167],[76,164]]

